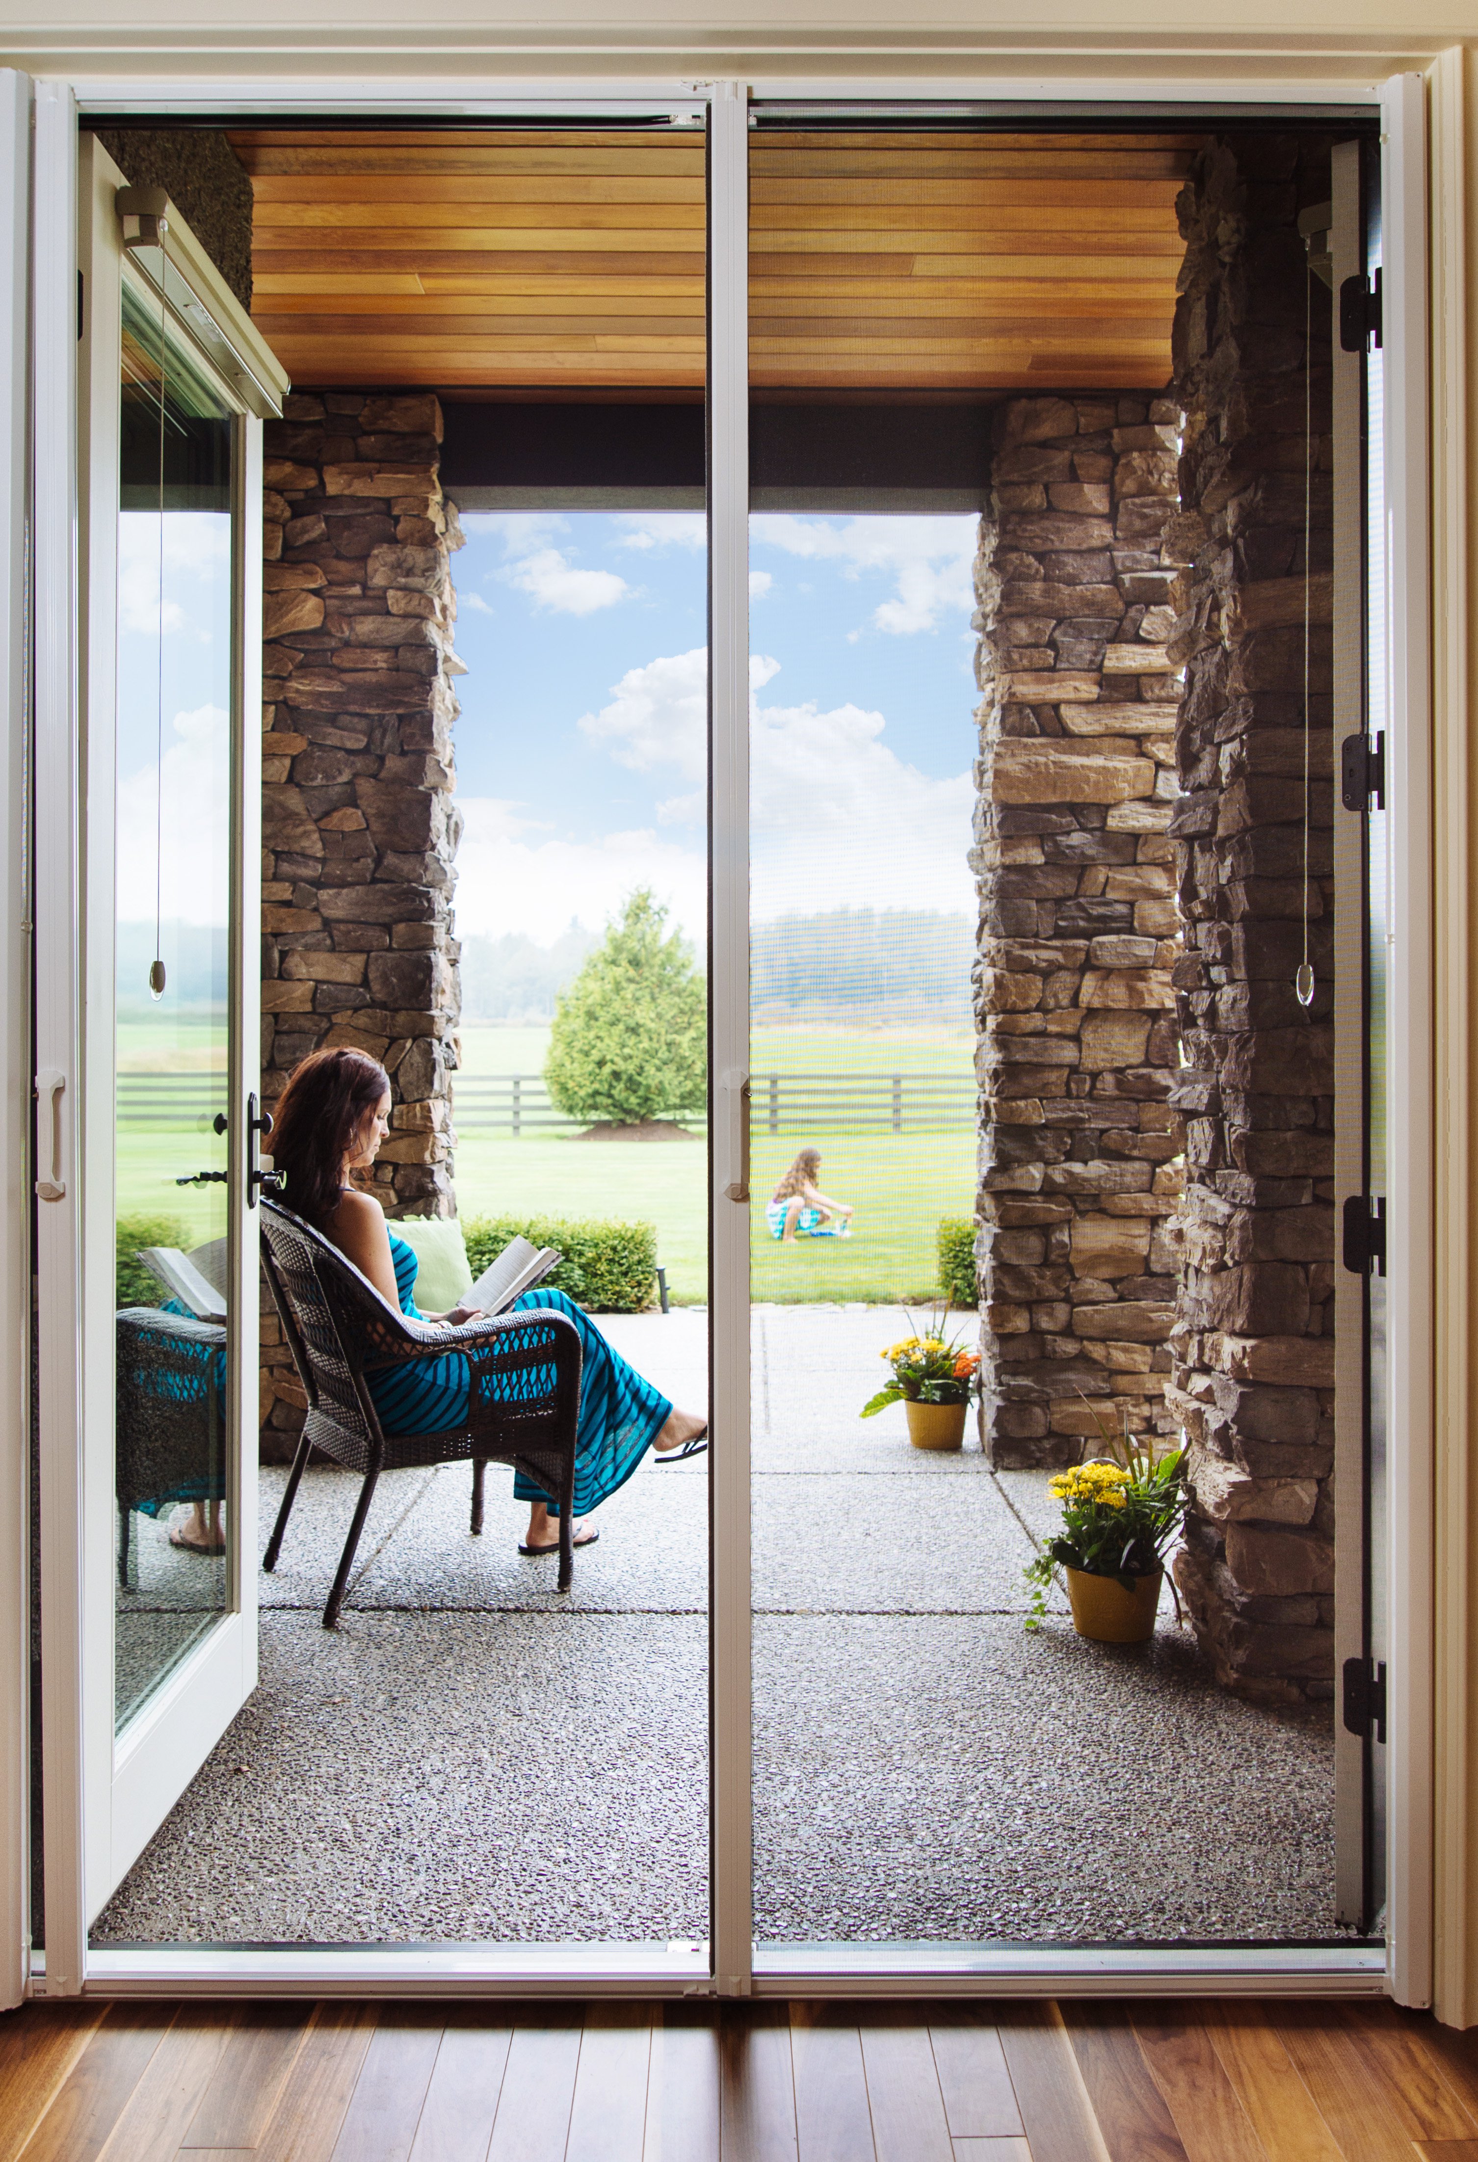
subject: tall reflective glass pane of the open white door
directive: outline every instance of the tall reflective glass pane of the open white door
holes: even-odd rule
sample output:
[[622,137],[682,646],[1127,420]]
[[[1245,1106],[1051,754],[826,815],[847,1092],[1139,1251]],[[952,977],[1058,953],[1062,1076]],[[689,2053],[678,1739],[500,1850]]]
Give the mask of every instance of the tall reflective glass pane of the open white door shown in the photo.
[[231,415],[123,288],[117,1630],[123,1727],[227,1611]]

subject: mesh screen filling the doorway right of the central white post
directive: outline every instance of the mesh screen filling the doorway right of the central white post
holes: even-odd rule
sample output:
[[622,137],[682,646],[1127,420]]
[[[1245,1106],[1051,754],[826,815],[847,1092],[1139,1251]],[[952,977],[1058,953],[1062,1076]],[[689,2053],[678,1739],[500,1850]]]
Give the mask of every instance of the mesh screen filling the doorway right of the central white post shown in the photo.
[[[1331,1399],[1305,1386],[1329,1373],[1333,1213],[1316,1180],[1333,1111],[1322,1038],[1294,1033],[1292,945],[1303,908],[1329,1001],[1327,649],[1318,620],[1307,646],[1230,627],[1225,677],[1212,640],[1182,672],[1184,595],[1204,608],[1212,575],[1195,534],[1221,532],[1197,521],[1225,508],[1199,463],[1223,443],[1221,389],[1182,361],[1201,406],[1165,396],[1178,279],[1204,290],[1182,277],[1175,214],[1180,188],[1208,186],[1195,158],[1193,138],[823,132],[782,110],[750,136],[752,1738],[769,1972],[806,1972],[817,1944],[1338,1931],[1318,1665]],[[1327,339],[1329,292],[1305,296],[1286,238],[1288,316],[1303,326],[1307,305]],[[1230,361],[1197,365],[1212,378]],[[1325,398],[1316,370],[1316,428]],[[1286,575],[1294,625],[1329,562],[1301,383],[1277,426],[1296,476],[1286,523],[1266,538],[1273,512],[1236,480],[1227,562],[1255,595]],[[1219,456],[1262,473],[1249,439]],[[1286,796],[1249,780],[1255,809],[1221,813],[1217,789],[1275,755],[1312,778]],[[1178,800],[1199,809],[1173,826]],[[1214,828],[1199,852],[1197,815]],[[1275,863],[1286,917],[1260,886]],[[1186,982],[1201,988],[1178,1007]],[[1296,1046],[1292,1079],[1242,1064],[1273,1027]],[[1253,1209],[1286,1211],[1279,1241],[1299,1226],[1296,1265],[1262,1269],[1294,1243],[1273,1245]],[[1242,1282],[1266,1284],[1266,1306],[1234,1306]],[[962,1401],[977,1358],[981,1401]],[[1119,1433],[1134,1464],[1195,1440],[1184,1600],[1156,1567],[1173,1522],[1143,1472],[1104,1462],[1130,1455]],[[1093,1459],[1080,1490],[1054,1490]],[[1288,1535],[1262,1481],[1294,1466]],[[1117,1509],[1165,1546],[1115,1550]],[[1104,1587],[1139,1613],[1089,1611],[1113,1604]],[[1288,1624],[1307,1634],[1275,1637]]]

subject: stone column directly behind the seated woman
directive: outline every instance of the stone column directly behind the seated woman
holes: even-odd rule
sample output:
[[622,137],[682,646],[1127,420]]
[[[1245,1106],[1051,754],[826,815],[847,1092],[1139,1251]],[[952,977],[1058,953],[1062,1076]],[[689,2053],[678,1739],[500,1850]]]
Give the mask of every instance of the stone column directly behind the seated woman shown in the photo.
[[[432,396],[294,396],[266,430],[261,1092],[324,1044],[391,1077],[374,1191],[449,1215],[460,992],[449,551]],[[264,1425],[303,1397],[264,1317]]]

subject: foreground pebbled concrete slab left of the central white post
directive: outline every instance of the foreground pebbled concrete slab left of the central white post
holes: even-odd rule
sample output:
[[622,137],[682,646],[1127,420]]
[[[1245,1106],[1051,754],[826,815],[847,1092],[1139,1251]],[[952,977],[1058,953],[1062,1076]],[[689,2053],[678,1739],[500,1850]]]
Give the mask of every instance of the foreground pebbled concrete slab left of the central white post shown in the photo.
[[261,1624],[99,1944],[707,1937],[707,1619]]

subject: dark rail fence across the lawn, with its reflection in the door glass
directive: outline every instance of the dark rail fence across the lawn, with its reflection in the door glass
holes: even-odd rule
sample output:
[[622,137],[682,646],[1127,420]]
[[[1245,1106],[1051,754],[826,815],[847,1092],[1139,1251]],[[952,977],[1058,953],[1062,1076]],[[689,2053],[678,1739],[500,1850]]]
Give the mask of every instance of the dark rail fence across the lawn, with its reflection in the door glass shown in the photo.
[[[119,1126],[197,1126],[225,1111],[225,1075],[119,1075]],[[456,1129],[475,1133],[579,1133],[549,1100],[542,1075],[462,1075]],[[942,1075],[756,1072],[752,1133],[953,1133],[972,1129],[972,1081]],[[689,1120],[702,1126],[702,1118]]]

